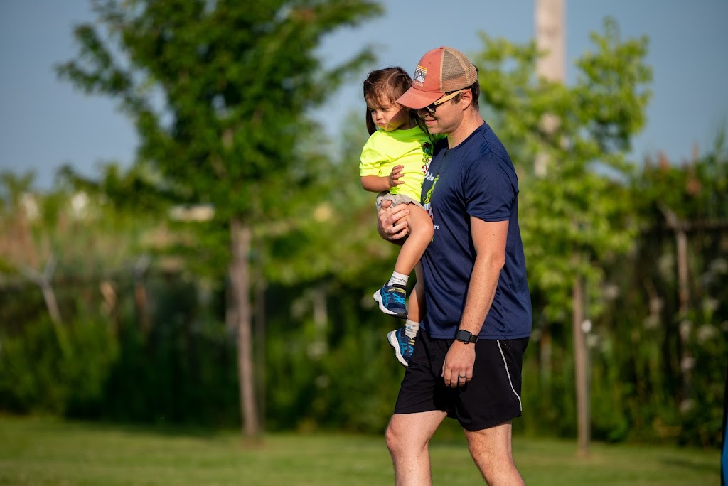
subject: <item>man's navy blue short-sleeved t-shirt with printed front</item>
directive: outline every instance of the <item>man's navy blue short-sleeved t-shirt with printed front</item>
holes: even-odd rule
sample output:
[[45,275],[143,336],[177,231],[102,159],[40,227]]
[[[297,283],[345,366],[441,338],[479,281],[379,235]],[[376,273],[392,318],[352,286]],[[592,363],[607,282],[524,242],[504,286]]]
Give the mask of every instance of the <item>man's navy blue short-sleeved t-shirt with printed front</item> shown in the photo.
[[[435,147],[422,186],[422,203],[435,236],[422,257],[426,312],[422,328],[433,338],[455,337],[475,263],[470,217],[508,221],[505,266],[480,338],[531,335],[531,295],[518,227],[518,178],[505,147],[483,123],[458,146]],[[440,149],[438,151],[438,148]]]

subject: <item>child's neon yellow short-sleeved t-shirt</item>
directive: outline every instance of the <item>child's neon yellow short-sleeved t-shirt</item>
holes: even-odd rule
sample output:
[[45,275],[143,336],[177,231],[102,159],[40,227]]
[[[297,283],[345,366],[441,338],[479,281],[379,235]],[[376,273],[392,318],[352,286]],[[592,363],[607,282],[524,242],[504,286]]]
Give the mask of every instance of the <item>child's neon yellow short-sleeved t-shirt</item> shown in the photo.
[[419,127],[408,130],[377,130],[364,144],[359,175],[387,177],[392,167],[403,165],[404,184],[389,189],[391,194],[405,194],[422,202],[422,182],[432,159],[432,142]]

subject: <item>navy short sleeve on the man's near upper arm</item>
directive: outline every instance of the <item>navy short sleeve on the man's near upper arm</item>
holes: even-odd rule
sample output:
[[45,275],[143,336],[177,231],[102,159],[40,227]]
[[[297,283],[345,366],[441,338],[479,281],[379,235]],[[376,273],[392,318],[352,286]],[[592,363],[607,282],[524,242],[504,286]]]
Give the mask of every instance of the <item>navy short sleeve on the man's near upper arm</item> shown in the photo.
[[463,192],[469,215],[483,221],[510,220],[518,180],[502,159],[487,154],[470,166]]

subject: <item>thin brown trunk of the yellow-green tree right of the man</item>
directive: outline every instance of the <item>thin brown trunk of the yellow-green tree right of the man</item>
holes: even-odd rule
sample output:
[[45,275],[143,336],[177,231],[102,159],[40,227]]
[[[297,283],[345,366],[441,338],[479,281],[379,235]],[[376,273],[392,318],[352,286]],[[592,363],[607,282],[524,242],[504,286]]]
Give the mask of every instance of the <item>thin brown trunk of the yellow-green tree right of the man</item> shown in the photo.
[[589,454],[589,391],[587,383],[587,352],[582,322],[584,322],[584,279],[574,279],[574,316],[571,328],[574,333],[574,370],[577,391],[577,442],[579,456]]

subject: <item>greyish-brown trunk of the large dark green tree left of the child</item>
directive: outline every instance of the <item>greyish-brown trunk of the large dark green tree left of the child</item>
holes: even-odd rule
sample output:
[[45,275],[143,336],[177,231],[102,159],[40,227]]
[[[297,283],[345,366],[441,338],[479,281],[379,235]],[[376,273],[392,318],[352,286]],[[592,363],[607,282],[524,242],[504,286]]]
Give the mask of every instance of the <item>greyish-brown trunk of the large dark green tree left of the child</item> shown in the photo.
[[256,411],[255,384],[253,383],[253,341],[250,323],[250,226],[241,220],[230,221],[232,263],[230,282],[237,317],[237,370],[240,381],[242,434],[257,437],[261,432]]

